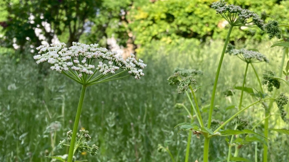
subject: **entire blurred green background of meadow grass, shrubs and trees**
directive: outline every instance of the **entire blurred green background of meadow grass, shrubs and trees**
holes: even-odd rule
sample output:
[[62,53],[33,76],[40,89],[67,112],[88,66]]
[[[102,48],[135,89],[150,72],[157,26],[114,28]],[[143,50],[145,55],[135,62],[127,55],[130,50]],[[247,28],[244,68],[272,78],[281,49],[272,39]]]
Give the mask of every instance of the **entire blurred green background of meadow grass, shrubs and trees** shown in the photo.
[[[113,49],[114,38],[120,49],[137,54],[147,63],[145,77],[127,78],[88,88],[80,128],[90,131],[92,142],[99,146],[98,155],[77,155],[81,160],[99,162],[170,161],[157,145],[168,146],[183,161],[187,133],[174,126],[189,121],[176,103],[189,105],[182,94],[166,79],[176,67],[195,68],[204,72],[196,79],[202,111],[208,111],[211,85],[214,82],[227,27],[224,19],[211,9],[213,0],[3,0],[0,1],[0,161],[41,161],[45,156],[63,155],[58,141],[73,127],[80,86],[49,69],[35,64],[35,48],[54,41],[73,41]],[[230,0],[262,15],[267,22],[275,19],[288,24],[288,0]],[[274,41],[254,28],[234,29],[232,44],[258,49],[269,64],[258,64],[262,76],[267,70],[277,72],[282,56]],[[240,86],[245,65],[233,56],[225,56],[218,86],[215,115],[220,121],[234,114],[233,99],[223,91]],[[288,59],[288,58],[287,58]],[[241,70],[240,70],[241,69]],[[243,70],[242,70],[243,69]],[[257,87],[253,71],[246,85]],[[252,77],[250,77],[252,76]],[[286,91],[285,85],[280,91]],[[233,89],[234,90],[234,89]],[[236,95],[239,91],[234,90]],[[249,95],[244,104],[254,101]],[[287,107],[288,111],[288,107]],[[263,118],[261,106],[250,108],[242,116],[256,124]],[[272,114],[278,114],[277,106]],[[262,117],[260,117],[262,116]],[[206,118],[206,117],[205,117]],[[273,116],[270,128],[285,128],[279,116]],[[232,127],[232,126],[228,126]],[[233,128],[233,127],[232,127]],[[258,129],[258,128],[257,128]],[[262,133],[262,130],[257,130]],[[272,133],[272,132],[271,132]],[[191,141],[190,161],[201,161],[203,139]],[[285,135],[270,136],[271,161],[288,161],[289,140]],[[284,146],[284,147],[282,147]],[[245,145],[241,156],[254,159],[252,144]],[[224,138],[210,143],[210,161],[227,156]],[[259,159],[262,142],[258,143]]]

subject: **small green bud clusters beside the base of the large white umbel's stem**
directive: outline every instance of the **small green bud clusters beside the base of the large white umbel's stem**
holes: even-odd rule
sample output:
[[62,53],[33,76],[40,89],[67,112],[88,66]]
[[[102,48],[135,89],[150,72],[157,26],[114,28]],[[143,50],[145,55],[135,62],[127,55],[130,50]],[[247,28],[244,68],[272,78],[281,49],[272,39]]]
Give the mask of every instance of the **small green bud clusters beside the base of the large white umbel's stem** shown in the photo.
[[[76,152],[78,153],[82,153],[85,151],[89,151],[91,153],[92,156],[96,155],[97,151],[98,151],[98,147],[96,145],[92,145],[91,147],[88,145],[88,143],[86,141],[90,141],[91,140],[91,136],[88,135],[88,131],[86,130],[79,130],[80,133],[76,134],[76,139],[75,142],[77,143],[77,149]],[[67,135],[67,141],[70,143],[71,142],[71,136],[72,136],[72,131],[68,131],[66,133]],[[60,141],[59,143],[60,148],[64,148],[64,146],[66,146],[65,144],[65,140]]]

